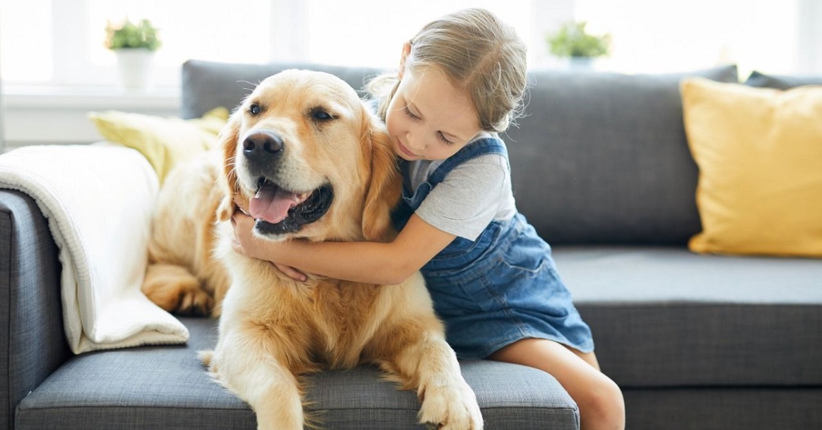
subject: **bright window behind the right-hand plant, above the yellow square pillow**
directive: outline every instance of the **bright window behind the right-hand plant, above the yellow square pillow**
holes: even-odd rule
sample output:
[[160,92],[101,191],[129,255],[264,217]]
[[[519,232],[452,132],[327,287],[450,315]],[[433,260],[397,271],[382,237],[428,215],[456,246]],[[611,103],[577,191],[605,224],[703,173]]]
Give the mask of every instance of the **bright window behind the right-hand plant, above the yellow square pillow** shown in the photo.
[[[679,72],[734,63],[744,79],[753,69],[774,74],[822,72],[801,61],[812,54],[799,51],[801,34],[812,30],[811,21],[800,19],[803,3],[819,4],[813,0],[577,0],[576,16],[589,21],[591,30],[612,34],[609,68]],[[822,40],[817,40],[817,55],[820,49]]]

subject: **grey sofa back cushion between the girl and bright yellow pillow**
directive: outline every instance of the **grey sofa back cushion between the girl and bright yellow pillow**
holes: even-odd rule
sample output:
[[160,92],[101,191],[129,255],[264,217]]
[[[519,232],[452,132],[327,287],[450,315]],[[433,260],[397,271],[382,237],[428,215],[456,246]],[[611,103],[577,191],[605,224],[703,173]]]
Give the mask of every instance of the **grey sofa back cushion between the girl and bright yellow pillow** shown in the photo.
[[517,206],[549,243],[685,244],[699,231],[697,169],[682,126],[685,76],[533,72],[504,136]]

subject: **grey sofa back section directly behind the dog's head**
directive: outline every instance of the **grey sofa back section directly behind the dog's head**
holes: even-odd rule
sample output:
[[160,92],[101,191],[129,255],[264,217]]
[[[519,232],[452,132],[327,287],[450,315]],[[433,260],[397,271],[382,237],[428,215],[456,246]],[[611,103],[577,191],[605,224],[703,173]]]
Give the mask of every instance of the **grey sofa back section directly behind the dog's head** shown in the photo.
[[[338,76],[355,90],[363,90],[365,82],[381,73],[368,67],[338,67],[320,64],[229,64],[188,60],[182,65],[182,118],[198,118],[210,109],[222,106],[233,109],[252,92],[256,84],[287,68],[319,70]],[[363,95],[362,91],[360,92]]]

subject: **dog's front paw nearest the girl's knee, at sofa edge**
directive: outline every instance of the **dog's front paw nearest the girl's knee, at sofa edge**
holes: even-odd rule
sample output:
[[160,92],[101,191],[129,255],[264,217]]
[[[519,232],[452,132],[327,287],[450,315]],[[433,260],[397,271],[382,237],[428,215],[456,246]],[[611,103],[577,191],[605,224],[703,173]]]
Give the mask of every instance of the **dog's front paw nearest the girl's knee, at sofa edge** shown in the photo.
[[483,414],[468,384],[428,387],[419,409],[420,423],[442,430],[482,430]]

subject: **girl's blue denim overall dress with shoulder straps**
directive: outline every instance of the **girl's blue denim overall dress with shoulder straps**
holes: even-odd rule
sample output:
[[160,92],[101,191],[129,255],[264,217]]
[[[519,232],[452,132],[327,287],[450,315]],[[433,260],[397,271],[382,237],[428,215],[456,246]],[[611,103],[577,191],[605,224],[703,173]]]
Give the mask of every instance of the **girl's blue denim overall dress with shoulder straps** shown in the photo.
[[[500,139],[473,141],[416,190],[404,187],[403,201],[394,213],[397,228],[457,165],[492,153],[507,160]],[[582,352],[593,350],[589,326],[556,272],[551,247],[520,213],[510,220],[492,220],[473,242],[455,238],[421,271],[436,313],[445,321],[446,339],[459,358],[486,358],[526,338],[555,340]]]

